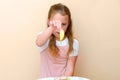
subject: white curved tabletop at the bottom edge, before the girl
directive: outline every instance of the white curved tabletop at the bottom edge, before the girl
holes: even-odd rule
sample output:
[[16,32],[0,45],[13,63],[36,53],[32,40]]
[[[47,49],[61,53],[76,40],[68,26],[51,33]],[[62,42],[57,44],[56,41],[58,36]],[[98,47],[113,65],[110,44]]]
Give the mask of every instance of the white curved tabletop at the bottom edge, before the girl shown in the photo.
[[50,77],[50,78],[42,78],[42,79],[38,79],[38,80],[62,80],[62,79],[66,79],[66,80],[90,80],[88,78],[77,77],[77,76],[73,76],[73,77]]

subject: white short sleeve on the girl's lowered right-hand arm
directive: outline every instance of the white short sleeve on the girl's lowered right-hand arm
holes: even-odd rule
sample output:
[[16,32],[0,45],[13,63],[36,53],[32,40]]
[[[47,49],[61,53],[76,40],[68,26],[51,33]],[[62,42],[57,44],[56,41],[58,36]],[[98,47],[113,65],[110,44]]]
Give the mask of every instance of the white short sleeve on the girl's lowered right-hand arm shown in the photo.
[[73,52],[69,56],[77,56],[79,53],[79,42],[77,39],[73,41]]

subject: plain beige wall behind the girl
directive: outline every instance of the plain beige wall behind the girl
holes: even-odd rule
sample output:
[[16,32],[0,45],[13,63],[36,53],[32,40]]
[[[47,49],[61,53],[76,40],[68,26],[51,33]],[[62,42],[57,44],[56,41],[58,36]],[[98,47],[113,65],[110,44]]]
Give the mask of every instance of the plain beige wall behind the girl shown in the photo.
[[119,80],[119,0],[0,0],[0,80],[39,77],[36,34],[46,27],[50,5],[58,2],[70,8],[80,42],[75,75]]

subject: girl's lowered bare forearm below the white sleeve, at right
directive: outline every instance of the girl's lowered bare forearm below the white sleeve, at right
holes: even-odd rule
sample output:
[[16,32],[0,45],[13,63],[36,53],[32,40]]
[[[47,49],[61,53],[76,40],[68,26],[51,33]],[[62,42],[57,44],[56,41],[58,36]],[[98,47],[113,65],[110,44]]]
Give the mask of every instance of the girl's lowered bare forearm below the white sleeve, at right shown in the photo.
[[77,56],[71,56],[67,62],[65,76],[73,76]]

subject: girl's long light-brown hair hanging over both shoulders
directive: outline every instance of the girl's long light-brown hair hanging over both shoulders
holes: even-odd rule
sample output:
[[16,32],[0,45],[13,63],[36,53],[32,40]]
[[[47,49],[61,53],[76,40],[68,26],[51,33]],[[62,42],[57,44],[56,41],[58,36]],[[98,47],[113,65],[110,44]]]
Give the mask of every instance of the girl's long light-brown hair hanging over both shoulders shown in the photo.
[[[61,3],[54,4],[50,7],[50,10],[48,13],[48,19],[50,19],[52,14],[55,14],[55,13],[60,13],[61,15],[68,15],[68,18],[69,18],[69,25],[68,25],[68,28],[65,32],[65,35],[69,40],[69,50],[67,53],[69,55],[73,51],[73,32],[72,32],[71,13],[70,13],[70,10],[68,9],[68,7],[61,4]],[[50,49],[50,52],[53,56],[58,55],[59,49],[56,46],[56,40],[55,40],[55,36],[53,34],[50,37],[49,49]]]

